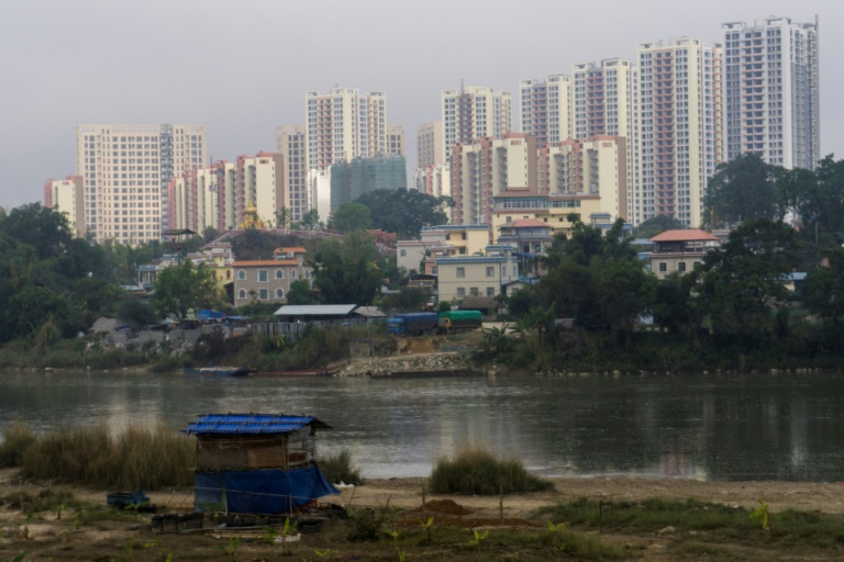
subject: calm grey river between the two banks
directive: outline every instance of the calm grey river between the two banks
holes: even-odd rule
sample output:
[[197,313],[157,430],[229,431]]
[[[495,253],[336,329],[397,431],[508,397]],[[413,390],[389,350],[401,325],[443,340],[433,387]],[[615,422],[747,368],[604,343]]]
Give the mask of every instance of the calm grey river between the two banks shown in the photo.
[[466,443],[543,475],[844,481],[844,376],[222,378],[0,373],[0,429],[313,415],[319,452],[364,476],[426,476]]

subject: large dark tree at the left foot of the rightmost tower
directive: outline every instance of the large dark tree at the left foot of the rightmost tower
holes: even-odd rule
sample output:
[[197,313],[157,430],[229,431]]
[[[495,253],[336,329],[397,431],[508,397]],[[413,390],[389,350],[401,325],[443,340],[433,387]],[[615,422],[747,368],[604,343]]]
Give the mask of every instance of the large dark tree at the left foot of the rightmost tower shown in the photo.
[[703,199],[709,223],[737,224],[756,218],[782,218],[785,206],[777,196],[782,168],[747,153],[723,162],[709,179]]

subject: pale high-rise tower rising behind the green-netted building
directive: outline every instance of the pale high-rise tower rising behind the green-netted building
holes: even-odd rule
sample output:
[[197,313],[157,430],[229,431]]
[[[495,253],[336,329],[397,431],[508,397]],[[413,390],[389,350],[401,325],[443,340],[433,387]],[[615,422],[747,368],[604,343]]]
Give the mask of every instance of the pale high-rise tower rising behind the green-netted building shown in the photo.
[[332,164],[387,154],[387,95],[360,94],[356,88],[307,92],[308,166],[324,170]]

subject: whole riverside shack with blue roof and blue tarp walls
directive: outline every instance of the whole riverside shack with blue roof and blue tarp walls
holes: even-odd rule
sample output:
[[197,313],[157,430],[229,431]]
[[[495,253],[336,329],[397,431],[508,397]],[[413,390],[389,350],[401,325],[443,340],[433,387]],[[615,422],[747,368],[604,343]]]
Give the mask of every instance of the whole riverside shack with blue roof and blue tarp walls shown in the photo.
[[209,414],[185,432],[197,436],[195,507],[199,512],[279,515],[338,494],[315,462],[312,416]]

